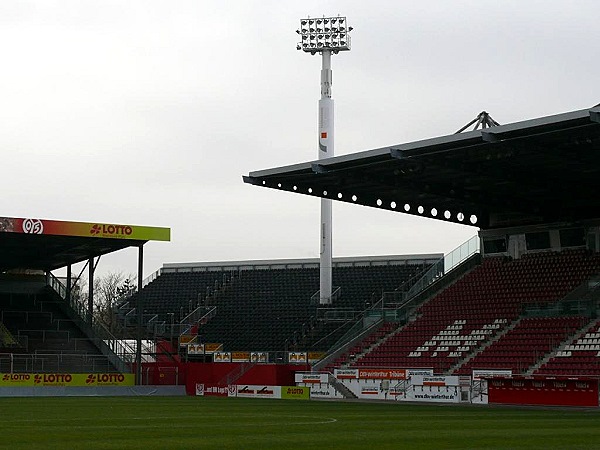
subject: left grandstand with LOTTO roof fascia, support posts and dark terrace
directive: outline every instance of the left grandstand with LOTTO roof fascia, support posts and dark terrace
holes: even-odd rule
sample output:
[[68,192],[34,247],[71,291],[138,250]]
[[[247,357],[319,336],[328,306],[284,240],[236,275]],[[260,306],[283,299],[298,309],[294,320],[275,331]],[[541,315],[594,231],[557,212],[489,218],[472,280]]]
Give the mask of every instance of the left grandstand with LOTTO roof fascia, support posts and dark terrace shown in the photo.
[[[136,346],[113,335],[96,314],[94,272],[102,255],[137,247],[141,274],[145,243],[169,239],[167,228],[0,218],[0,373],[87,374],[82,382],[90,384],[94,374],[141,367]],[[84,261],[85,296],[83,270],[72,272]],[[52,274],[60,268],[66,277]]]

